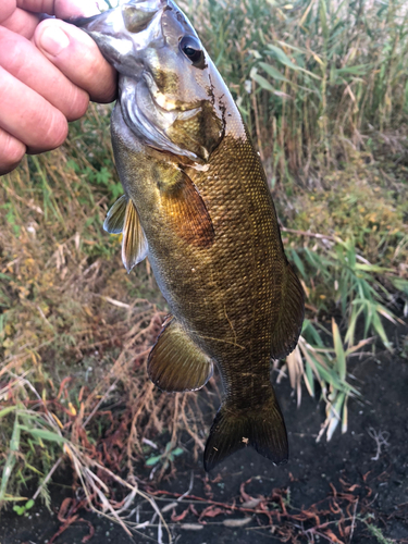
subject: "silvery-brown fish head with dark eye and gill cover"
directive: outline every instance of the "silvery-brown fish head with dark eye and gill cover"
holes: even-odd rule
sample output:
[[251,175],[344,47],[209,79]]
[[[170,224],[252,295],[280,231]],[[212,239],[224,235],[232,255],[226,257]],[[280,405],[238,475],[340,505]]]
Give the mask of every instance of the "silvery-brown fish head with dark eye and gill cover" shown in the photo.
[[122,114],[139,140],[206,163],[224,136],[230,92],[180,8],[133,0],[78,26],[119,71]]

